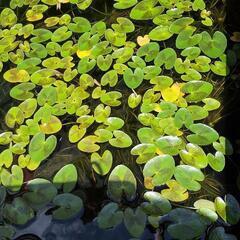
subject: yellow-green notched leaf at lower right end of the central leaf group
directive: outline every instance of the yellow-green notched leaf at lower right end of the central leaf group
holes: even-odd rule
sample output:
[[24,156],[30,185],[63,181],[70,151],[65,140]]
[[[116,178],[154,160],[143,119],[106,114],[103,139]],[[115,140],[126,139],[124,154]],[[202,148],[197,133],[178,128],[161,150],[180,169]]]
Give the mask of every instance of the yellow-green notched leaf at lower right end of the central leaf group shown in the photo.
[[113,147],[127,148],[132,145],[132,139],[123,131],[114,130],[113,135],[115,138],[109,140]]

